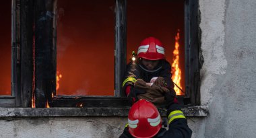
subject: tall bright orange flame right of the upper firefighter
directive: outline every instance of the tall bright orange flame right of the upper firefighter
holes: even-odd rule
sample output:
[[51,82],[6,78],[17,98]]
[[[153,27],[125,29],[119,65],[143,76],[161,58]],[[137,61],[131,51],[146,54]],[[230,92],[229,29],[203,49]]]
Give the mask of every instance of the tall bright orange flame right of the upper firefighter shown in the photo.
[[[180,32],[178,30],[177,35],[175,36],[175,49],[173,50],[173,63],[172,63],[172,81],[176,83],[179,88],[181,88],[181,69],[179,68],[179,39]],[[183,95],[181,90],[174,86],[174,90],[177,95]],[[182,88],[181,88],[182,89]]]

